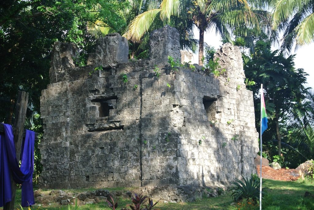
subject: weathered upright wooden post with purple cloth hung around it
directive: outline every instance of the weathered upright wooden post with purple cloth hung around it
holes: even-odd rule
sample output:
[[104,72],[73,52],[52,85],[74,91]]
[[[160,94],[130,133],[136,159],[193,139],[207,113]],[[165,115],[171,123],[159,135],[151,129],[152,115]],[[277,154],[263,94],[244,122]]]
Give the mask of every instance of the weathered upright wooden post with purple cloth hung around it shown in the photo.
[[[14,133],[14,146],[15,146],[15,154],[16,159],[19,161],[21,156],[21,146],[22,146],[22,139],[23,139],[23,132],[24,132],[24,123],[26,117],[26,109],[28,103],[28,93],[24,91],[19,91],[18,100],[16,103],[15,108],[15,120],[13,126],[13,133]],[[13,181],[11,175],[11,190],[12,190],[12,201],[7,202],[3,210],[14,210],[14,200],[15,200],[15,191],[16,191],[16,183]]]

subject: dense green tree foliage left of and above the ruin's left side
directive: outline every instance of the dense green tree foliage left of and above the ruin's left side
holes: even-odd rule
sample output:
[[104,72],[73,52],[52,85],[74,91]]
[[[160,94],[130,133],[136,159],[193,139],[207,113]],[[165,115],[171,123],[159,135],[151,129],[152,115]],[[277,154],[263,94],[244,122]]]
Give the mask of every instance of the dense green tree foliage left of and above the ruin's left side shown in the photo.
[[[95,7],[97,12],[91,12]],[[40,119],[41,90],[49,83],[51,45],[59,41],[78,44],[83,54],[91,50],[95,38],[87,30],[88,22],[100,17],[117,31],[126,25],[116,13],[125,3],[107,1],[30,0],[0,3],[0,121],[13,124],[15,100],[19,90],[29,93],[25,128],[42,136]],[[80,58],[84,64],[84,57]],[[35,143],[35,173],[41,171],[40,153]]]

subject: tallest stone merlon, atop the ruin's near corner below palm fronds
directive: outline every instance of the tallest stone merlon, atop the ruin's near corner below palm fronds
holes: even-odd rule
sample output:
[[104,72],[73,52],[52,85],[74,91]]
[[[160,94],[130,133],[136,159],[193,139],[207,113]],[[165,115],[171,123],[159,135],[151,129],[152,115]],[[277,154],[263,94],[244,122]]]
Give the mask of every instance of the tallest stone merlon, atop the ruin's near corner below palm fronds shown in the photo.
[[181,62],[179,32],[169,25],[154,30],[149,37],[149,58],[152,63],[165,65],[168,56]]

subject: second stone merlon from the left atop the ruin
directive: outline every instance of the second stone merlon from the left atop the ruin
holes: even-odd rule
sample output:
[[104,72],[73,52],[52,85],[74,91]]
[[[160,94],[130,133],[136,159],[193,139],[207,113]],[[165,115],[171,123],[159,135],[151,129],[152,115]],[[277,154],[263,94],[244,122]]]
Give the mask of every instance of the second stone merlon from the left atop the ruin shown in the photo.
[[98,38],[96,51],[89,55],[87,64],[115,67],[118,63],[127,62],[128,54],[127,39],[118,33],[108,34]]

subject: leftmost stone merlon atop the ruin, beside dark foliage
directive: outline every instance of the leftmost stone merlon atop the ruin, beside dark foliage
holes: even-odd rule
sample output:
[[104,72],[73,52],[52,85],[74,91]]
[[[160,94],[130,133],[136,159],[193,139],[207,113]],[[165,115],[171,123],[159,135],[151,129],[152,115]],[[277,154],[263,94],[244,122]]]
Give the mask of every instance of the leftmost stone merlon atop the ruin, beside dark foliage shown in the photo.
[[66,69],[75,68],[73,58],[79,57],[76,44],[55,42],[52,50],[49,77],[51,83],[59,82],[59,78],[66,77]]

